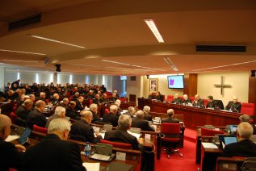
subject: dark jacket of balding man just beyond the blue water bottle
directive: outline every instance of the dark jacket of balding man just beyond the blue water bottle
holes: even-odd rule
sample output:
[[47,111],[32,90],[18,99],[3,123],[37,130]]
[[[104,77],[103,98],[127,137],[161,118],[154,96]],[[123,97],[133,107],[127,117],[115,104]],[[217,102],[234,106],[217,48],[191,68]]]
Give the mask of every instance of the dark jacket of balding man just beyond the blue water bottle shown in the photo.
[[93,144],[99,143],[101,139],[101,137],[94,137],[94,129],[90,127],[84,119],[80,119],[78,122],[73,123],[69,134],[74,140],[81,140]]

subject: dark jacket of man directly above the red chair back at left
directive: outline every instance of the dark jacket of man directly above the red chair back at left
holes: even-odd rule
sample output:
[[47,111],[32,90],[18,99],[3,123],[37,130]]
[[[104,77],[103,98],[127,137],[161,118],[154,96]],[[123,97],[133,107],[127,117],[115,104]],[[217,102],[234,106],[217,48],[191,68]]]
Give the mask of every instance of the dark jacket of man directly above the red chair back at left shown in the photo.
[[27,127],[33,129],[33,125],[36,124],[39,127],[45,127],[47,119],[44,114],[34,109],[27,115]]

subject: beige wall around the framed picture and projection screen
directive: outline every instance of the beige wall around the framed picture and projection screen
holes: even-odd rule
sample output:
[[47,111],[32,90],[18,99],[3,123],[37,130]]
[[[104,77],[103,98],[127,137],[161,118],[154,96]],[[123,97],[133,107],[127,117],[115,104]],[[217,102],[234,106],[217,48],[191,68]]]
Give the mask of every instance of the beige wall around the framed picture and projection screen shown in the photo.
[[[158,91],[160,91],[161,94],[166,95],[165,98],[167,98],[167,95],[174,95],[178,93],[180,96],[183,95],[183,89],[169,89],[168,88],[168,81],[167,76],[170,76],[172,74],[164,74],[164,75],[150,75],[149,78],[157,78],[158,79]],[[143,79],[143,96],[148,97],[149,96],[149,79],[147,79],[146,76],[141,76]]]

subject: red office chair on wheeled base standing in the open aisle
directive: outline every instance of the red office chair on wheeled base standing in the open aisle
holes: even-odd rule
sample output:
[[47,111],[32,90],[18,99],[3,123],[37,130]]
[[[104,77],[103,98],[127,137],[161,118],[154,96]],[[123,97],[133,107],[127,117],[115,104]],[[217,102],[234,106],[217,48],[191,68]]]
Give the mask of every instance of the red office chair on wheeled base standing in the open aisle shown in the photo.
[[167,147],[167,157],[170,158],[170,153],[178,153],[179,156],[183,157],[183,154],[179,152],[179,149],[172,150],[172,146],[178,144],[181,140],[180,136],[180,123],[162,123],[162,141],[169,144]]

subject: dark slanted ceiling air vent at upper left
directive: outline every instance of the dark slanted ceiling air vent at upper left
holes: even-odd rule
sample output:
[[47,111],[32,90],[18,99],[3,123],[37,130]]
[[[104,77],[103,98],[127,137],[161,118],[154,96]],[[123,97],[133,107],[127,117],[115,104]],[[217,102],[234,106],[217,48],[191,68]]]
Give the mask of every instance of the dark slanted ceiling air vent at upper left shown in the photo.
[[41,21],[41,14],[31,15],[29,17],[19,19],[9,23],[9,31],[14,30],[15,28],[30,25],[32,23],[39,23],[40,21]]

